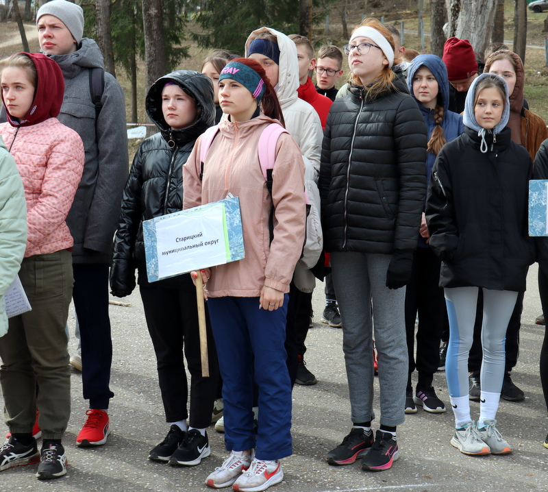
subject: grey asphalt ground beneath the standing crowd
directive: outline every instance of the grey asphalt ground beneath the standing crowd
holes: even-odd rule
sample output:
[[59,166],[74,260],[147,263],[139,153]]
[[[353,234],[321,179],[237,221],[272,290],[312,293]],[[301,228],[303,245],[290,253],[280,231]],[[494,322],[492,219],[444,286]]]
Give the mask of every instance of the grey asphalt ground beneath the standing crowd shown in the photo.
[[[307,339],[308,368],[318,378],[314,386],[293,390],[293,452],[282,461],[284,481],[273,492],[495,492],[547,491],[547,410],[538,376],[538,356],[545,328],[535,325],[540,314],[536,265],[529,273],[521,328],[521,353],[512,378],[525,391],[523,402],[501,400],[499,430],[514,452],[506,456],[465,456],[449,444],[453,429],[451,410],[430,414],[419,408],[398,427],[399,460],[392,469],[365,472],[359,463],[327,465],[324,455],[349,432],[350,408],[342,349],[342,331],[320,322],[323,284],[314,292],[314,328]],[[164,438],[162,401],[155,356],[145,324],[140,296],[124,299],[129,306],[110,306],[114,360],[110,404],[112,434],[101,447],[79,448],[75,439],[84,423],[87,402],[82,398],[82,376],[72,371],[72,413],[64,439],[69,460],[66,476],[38,481],[38,465],[0,473],[0,491],[206,491],[208,474],[227,457],[223,434],[208,429],[212,454],[196,467],[171,467],[147,459],[149,450]],[[71,311],[69,324],[74,325]],[[71,339],[71,353],[77,340]],[[445,373],[434,376],[438,396],[449,406]],[[378,384],[375,382],[378,394]],[[378,415],[378,399],[375,412]],[[479,404],[472,402],[473,418]],[[373,427],[378,421],[373,422]],[[39,442],[40,445],[40,442]],[[230,489],[225,489],[230,490]]]

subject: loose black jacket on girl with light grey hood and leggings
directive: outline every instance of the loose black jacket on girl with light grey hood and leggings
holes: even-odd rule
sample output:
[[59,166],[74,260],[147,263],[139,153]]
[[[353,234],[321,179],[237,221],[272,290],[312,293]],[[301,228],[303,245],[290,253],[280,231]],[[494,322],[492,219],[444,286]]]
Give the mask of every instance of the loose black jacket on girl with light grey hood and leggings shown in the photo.
[[479,150],[475,130],[444,145],[432,169],[426,201],[430,247],[443,260],[442,287],[477,286],[525,291],[534,261],[527,236],[528,182],[532,163],[510,128],[486,134]]

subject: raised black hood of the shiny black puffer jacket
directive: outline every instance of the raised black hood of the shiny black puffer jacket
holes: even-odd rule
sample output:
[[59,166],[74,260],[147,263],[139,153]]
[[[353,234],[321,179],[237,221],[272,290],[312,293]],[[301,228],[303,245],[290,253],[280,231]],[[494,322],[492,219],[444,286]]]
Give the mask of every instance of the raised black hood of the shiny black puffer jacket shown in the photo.
[[[164,119],[162,90],[164,90],[167,82],[174,82],[182,87],[196,101],[198,107],[199,116],[197,121],[181,130],[171,130],[171,127]],[[181,145],[196,140],[210,126],[215,124],[215,105],[213,101],[213,85],[207,75],[194,70],[177,70],[160,77],[151,85],[145,99],[145,108],[162,136],[169,140],[171,135],[175,143]]]

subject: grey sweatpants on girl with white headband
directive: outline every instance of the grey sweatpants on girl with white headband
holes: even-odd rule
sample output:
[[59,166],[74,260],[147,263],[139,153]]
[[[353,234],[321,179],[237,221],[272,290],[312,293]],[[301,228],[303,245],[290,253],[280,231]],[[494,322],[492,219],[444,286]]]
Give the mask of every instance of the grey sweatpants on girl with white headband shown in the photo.
[[343,319],[343,351],[354,423],[375,418],[373,339],[379,354],[380,423],[398,426],[405,421],[403,410],[408,379],[406,289],[386,287],[386,271],[391,258],[384,254],[331,254],[333,283]]

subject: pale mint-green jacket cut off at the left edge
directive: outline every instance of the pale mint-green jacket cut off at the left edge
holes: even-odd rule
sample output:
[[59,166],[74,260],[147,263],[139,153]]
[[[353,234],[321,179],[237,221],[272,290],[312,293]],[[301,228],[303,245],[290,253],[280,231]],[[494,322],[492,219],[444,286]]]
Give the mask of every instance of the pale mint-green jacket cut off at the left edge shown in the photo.
[[0,336],[8,332],[4,294],[12,284],[27,247],[27,204],[14,158],[0,135]]

